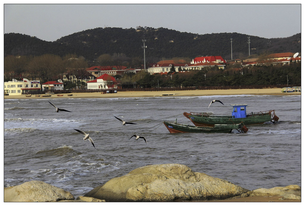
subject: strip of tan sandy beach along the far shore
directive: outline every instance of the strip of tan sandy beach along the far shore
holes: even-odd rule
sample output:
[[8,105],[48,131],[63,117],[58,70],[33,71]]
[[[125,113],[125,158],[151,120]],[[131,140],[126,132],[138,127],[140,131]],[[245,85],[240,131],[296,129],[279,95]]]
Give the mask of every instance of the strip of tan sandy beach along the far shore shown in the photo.
[[211,95],[301,95],[301,92],[283,93],[281,88],[272,89],[219,89],[219,90],[183,90],[183,91],[128,91],[112,94],[101,92],[69,93],[72,96],[26,97],[25,95],[4,96],[4,99],[47,99],[47,98],[128,98],[128,97],[167,97],[167,96],[211,96]]

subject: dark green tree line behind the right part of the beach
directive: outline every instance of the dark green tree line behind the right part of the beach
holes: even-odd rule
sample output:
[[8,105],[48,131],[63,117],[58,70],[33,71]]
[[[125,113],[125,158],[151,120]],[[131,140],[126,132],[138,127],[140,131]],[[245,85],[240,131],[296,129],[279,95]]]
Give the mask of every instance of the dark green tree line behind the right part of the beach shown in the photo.
[[238,85],[285,85],[288,75],[289,85],[301,85],[301,63],[292,62],[289,65],[264,65],[231,69],[192,70],[167,75],[125,74],[119,78],[122,88],[133,87],[202,87],[202,86],[238,86]]

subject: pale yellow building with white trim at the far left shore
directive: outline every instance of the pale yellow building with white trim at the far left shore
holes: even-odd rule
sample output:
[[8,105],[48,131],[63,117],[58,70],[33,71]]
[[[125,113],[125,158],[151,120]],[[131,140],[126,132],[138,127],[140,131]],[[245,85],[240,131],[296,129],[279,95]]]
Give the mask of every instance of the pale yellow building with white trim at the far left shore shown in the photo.
[[40,81],[30,81],[23,78],[23,81],[13,81],[4,82],[4,94],[5,95],[22,95],[27,93],[40,93],[41,86]]

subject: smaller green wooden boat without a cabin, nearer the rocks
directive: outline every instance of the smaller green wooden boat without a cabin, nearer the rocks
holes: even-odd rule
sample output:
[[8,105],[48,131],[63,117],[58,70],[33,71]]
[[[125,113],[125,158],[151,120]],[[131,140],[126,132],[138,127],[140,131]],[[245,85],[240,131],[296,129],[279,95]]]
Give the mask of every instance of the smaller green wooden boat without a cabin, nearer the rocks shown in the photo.
[[248,131],[248,128],[243,124],[214,125],[213,127],[198,127],[186,123],[178,123],[177,121],[164,121],[163,124],[170,133],[230,133],[233,129],[243,133]]

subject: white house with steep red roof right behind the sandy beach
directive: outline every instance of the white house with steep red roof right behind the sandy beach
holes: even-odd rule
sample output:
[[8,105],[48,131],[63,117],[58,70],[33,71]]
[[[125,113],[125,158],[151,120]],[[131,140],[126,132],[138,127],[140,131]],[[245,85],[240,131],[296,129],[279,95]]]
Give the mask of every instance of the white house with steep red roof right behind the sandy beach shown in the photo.
[[112,89],[117,88],[117,81],[114,77],[103,74],[95,80],[87,81],[87,89]]

